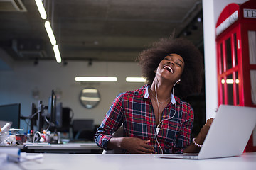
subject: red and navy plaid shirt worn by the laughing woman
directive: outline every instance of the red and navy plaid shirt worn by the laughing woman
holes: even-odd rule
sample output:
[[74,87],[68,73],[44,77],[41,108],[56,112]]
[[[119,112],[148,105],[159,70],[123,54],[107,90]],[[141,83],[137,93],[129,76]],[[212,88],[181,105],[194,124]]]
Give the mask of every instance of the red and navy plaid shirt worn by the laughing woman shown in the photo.
[[[147,90],[149,87],[149,85],[144,85],[135,91],[119,94],[114,99],[95,134],[95,142],[98,146],[107,149],[107,142],[113,132],[117,131],[123,123],[124,137],[150,140],[149,145],[154,146],[156,153],[161,153],[161,149],[165,154],[182,153],[183,149],[188,147],[193,126],[193,109],[180,98],[172,96],[171,102],[164,108],[161,115],[161,120],[164,121],[157,135],[157,140],[161,145],[160,149],[155,137],[157,125]],[[173,115],[174,118],[171,118]]]

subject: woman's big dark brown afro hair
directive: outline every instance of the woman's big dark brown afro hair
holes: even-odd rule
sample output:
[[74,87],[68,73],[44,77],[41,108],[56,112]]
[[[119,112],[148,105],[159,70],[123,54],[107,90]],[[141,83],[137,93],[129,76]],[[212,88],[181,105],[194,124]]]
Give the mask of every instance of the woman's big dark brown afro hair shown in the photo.
[[143,50],[137,60],[142,67],[142,76],[148,84],[152,84],[155,73],[161,60],[169,54],[180,55],[185,67],[181,75],[181,82],[176,85],[174,94],[186,98],[201,91],[203,81],[203,56],[192,42],[184,38],[161,38],[148,49]]

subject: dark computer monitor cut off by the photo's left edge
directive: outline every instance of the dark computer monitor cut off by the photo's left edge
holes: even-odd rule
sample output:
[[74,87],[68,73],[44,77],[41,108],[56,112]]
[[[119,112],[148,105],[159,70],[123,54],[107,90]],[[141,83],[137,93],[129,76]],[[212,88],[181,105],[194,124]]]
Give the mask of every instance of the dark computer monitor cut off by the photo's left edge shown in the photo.
[[12,122],[11,128],[20,128],[21,103],[0,106],[0,120]]

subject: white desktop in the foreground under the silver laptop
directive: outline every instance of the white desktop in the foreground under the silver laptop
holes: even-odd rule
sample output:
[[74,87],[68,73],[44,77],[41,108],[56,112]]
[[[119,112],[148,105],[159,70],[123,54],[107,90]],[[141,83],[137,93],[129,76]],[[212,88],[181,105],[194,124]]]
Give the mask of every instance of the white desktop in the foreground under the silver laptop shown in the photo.
[[240,157],[204,160],[161,159],[154,154],[43,154],[41,164],[36,162],[0,162],[0,169],[146,169],[146,170],[255,170],[256,152]]

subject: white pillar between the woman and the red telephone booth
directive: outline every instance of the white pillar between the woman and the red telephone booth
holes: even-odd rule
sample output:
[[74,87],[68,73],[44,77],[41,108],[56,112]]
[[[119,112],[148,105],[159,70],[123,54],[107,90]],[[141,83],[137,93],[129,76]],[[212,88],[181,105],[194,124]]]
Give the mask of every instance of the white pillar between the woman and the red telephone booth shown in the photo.
[[215,117],[218,108],[215,26],[220,13],[230,3],[245,0],[203,0],[203,41],[206,71],[206,119]]

